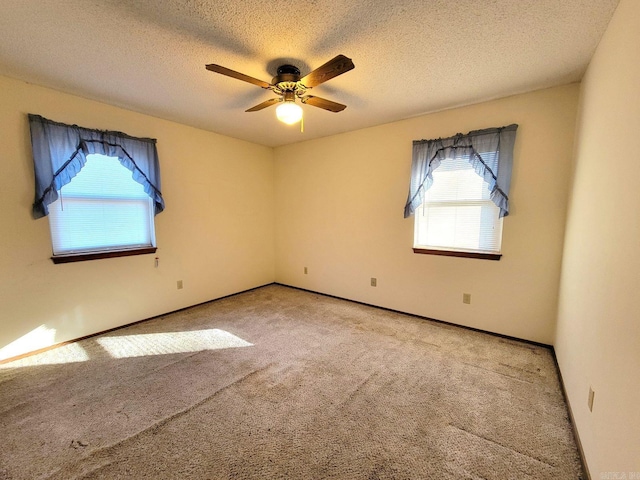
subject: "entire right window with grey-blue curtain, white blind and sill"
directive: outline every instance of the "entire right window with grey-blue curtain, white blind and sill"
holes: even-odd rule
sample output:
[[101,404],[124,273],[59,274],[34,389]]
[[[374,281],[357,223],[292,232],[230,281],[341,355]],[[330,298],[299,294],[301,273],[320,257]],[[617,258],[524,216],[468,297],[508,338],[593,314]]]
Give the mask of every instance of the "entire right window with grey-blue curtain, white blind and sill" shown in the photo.
[[500,260],[518,125],[413,142],[415,253]]

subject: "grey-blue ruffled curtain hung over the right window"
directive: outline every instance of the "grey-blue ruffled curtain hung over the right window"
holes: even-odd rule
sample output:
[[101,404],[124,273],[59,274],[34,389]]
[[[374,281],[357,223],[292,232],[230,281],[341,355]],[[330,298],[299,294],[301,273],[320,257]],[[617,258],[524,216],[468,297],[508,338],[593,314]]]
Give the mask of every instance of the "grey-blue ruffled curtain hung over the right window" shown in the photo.
[[509,215],[509,187],[513,167],[513,146],[518,125],[474,130],[436,140],[413,142],[411,183],[404,207],[407,218],[424,201],[433,183],[433,171],[445,159],[464,159],[489,184],[491,200],[500,208],[500,217]]

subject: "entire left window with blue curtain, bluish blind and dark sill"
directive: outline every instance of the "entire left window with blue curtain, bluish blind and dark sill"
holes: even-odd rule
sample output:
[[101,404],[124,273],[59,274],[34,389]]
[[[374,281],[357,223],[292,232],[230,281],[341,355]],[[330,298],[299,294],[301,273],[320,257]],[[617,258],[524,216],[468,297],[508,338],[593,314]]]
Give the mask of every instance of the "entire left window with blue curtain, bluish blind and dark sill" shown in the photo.
[[29,115],[34,218],[49,216],[54,263],[153,253],[164,210],[156,140]]

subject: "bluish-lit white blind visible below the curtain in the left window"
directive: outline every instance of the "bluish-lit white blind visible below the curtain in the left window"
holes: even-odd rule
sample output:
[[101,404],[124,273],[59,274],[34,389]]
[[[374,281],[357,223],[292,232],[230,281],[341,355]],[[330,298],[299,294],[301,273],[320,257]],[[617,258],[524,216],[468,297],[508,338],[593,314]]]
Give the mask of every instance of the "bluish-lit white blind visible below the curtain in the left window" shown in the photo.
[[155,246],[153,202],[115,157],[87,163],[49,206],[54,255]]

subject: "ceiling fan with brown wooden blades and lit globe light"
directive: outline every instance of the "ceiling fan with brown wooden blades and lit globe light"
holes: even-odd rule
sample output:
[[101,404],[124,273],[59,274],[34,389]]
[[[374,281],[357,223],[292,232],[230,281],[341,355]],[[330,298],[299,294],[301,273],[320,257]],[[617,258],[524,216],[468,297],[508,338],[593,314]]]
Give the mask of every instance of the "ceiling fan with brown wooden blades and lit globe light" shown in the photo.
[[324,65],[316,68],[311,73],[300,76],[300,70],[294,65],[282,65],[278,67],[277,75],[273,77],[271,83],[258,80],[257,78],[250,77],[244,73],[236,72],[226,67],[222,67],[216,64],[209,64],[206,66],[207,70],[220,73],[228,77],[237,78],[244,82],[252,83],[258,87],[262,87],[266,90],[271,90],[278,97],[270,98],[258,105],[246,110],[247,112],[257,112],[263,108],[270,107],[271,105],[278,105],[276,115],[278,119],[293,124],[301,120],[302,109],[295,103],[296,98],[301,103],[311,105],[313,107],[322,108],[330,112],[341,112],[346,105],[333,102],[324,98],[316,97],[315,95],[307,95],[307,91],[313,87],[316,87],[327,80],[342,75],[355,68],[355,65],[350,58],[344,55],[338,55],[337,57],[329,60]]

